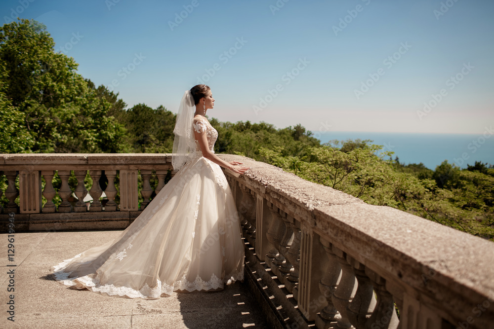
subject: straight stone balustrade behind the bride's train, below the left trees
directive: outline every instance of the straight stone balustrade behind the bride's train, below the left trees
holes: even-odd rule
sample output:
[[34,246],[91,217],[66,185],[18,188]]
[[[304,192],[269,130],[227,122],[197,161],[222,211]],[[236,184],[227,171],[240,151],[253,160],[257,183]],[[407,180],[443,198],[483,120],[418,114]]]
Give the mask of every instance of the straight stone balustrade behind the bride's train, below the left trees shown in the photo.
[[[3,192],[8,204],[0,215],[0,229],[6,231],[8,213],[17,214],[17,232],[125,228],[149,203],[151,175],[158,180],[154,190],[158,193],[165,185],[165,176],[173,175],[172,169],[171,154],[1,154],[0,171],[8,185],[5,191],[0,190],[0,197]],[[93,181],[89,190],[84,186],[87,174]],[[52,184],[55,175],[61,180],[57,190]],[[99,184],[102,175],[108,181],[104,191]],[[69,186],[71,176],[77,179],[74,190]],[[44,188],[41,178],[46,182]],[[139,190],[143,198],[140,204]],[[99,200],[103,192],[104,207]],[[119,203],[115,202],[117,193]],[[72,194],[77,202],[69,202]],[[87,194],[93,200],[89,205],[83,202]],[[44,205],[41,195],[46,199]],[[62,201],[58,207],[52,201],[56,195]]]

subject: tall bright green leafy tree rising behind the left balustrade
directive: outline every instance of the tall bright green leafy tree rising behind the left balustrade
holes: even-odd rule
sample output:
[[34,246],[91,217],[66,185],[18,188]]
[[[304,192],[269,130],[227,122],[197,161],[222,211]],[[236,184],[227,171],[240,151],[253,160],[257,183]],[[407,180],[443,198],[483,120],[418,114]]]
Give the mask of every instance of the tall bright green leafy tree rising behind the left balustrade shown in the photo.
[[117,152],[124,127],[111,104],[76,73],[73,58],[54,52],[46,27],[20,19],[0,28],[5,97],[22,113],[34,152]]

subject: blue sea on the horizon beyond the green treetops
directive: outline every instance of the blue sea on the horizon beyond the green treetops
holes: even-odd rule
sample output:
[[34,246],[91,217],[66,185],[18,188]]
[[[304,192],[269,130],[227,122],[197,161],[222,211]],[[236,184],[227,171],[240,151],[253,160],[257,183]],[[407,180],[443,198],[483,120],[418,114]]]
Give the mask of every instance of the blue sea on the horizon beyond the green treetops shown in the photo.
[[494,134],[412,134],[366,132],[313,132],[321,143],[331,140],[370,139],[372,144],[382,145],[382,150],[393,151],[400,163],[422,162],[429,169],[436,169],[444,160],[460,168],[475,161],[494,165]]

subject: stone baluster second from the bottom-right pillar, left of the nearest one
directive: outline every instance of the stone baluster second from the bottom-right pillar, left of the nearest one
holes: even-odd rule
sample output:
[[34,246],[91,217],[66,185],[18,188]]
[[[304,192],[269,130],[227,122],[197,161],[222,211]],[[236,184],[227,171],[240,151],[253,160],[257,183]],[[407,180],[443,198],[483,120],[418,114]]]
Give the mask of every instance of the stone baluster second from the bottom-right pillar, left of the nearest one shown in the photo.
[[352,302],[348,305],[348,319],[356,328],[365,328],[377,303],[372,289],[372,283],[365,273],[364,264],[348,255],[346,259],[353,267],[358,282],[355,297],[353,297]]

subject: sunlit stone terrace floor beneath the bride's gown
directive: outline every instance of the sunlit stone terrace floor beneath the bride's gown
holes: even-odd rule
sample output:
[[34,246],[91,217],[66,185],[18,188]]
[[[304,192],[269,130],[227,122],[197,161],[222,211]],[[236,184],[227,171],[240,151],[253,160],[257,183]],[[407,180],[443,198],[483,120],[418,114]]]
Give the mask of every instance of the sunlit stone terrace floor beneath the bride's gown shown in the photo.
[[[74,290],[51,279],[64,259],[114,239],[119,231],[15,234],[15,258],[7,259],[0,234],[0,328],[268,328],[245,284],[221,292],[174,293],[155,300],[110,297]],[[7,267],[16,264],[17,267]],[[9,269],[15,268],[15,322],[6,302]]]

